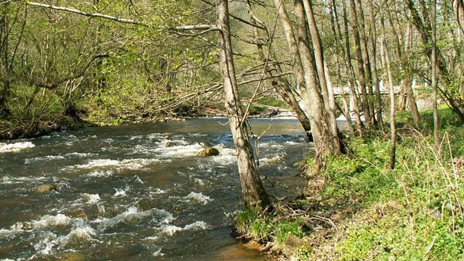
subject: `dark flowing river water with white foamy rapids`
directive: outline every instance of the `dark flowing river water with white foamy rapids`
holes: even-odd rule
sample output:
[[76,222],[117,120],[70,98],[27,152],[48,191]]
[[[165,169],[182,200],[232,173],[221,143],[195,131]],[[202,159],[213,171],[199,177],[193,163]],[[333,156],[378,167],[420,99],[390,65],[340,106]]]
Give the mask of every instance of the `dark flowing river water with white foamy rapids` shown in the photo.
[[[64,131],[0,143],[0,260],[261,261],[230,235],[243,208],[226,118]],[[268,192],[309,152],[293,118],[251,119]],[[167,147],[166,144],[172,146]],[[217,157],[198,157],[206,145]],[[52,183],[57,190],[36,191]]]

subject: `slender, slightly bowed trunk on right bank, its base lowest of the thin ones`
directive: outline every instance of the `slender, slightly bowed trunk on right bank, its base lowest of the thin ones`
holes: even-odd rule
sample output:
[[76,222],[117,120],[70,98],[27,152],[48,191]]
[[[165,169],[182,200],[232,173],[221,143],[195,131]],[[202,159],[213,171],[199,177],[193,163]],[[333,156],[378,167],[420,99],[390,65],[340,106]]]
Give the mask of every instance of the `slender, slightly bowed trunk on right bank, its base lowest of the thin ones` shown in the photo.
[[387,65],[387,77],[388,77],[388,87],[390,89],[390,131],[391,131],[391,149],[390,149],[390,170],[395,168],[395,154],[396,154],[396,126],[395,126],[395,91],[393,89],[393,75],[392,68],[390,65],[390,56],[388,55],[387,48],[387,34],[385,33],[385,11],[383,6],[383,0],[380,0],[380,8],[382,18],[380,20],[380,26],[382,27],[382,46],[385,56],[385,64]]

